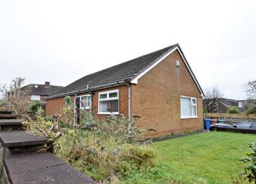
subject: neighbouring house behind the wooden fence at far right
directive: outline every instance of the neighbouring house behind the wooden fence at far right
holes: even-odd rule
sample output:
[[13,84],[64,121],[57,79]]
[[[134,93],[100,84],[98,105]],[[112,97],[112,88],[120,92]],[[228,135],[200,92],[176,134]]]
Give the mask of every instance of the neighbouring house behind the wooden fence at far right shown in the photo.
[[[239,110],[239,113],[244,113],[244,104],[247,100],[234,100],[234,99],[227,99],[227,98],[219,98],[211,105],[213,108],[212,112],[208,113],[227,113],[230,106],[234,106]],[[205,105],[205,104],[204,104]],[[204,108],[207,108],[206,106]]]

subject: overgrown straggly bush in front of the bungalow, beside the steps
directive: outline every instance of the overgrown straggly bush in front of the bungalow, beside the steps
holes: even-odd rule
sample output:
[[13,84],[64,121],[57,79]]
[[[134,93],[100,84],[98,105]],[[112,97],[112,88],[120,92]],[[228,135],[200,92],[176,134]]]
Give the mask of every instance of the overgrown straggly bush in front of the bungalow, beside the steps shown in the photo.
[[52,120],[43,118],[39,109],[36,121],[25,122],[27,129],[50,140],[46,149],[102,183],[154,167],[155,152],[148,146],[150,141],[140,137],[148,130],[137,128],[136,119],[110,115],[100,121],[81,110],[77,124],[74,105],[70,97],[65,99],[67,106]]

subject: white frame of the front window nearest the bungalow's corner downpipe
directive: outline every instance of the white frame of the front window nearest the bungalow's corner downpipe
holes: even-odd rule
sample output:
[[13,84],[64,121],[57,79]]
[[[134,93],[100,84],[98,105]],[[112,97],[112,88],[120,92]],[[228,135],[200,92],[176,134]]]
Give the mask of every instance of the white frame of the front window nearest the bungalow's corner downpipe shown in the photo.
[[[109,97],[109,93],[112,93],[112,92],[117,92],[117,97]],[[103,95],[103,94],[106,94],[107,97],[106,98],[103,98],[103,99],[100,99],[100,96]],[[118,112],[100,112],[100,102],[102,101],[109,101],[109,100],[118,100]],[[119,115],[119,89],[114,89],[114,90],[110,90],[110,91],[104,91],[104,92],[99,92],[98,93],[98,114],[99,115],[111,115],[111,114],[114,114],[114,115]]]

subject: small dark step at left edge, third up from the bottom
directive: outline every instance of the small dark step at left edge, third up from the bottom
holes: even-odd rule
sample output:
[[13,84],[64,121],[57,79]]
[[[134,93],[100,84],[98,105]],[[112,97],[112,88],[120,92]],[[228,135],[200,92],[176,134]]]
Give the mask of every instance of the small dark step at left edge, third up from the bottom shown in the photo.
[[24,130],[21,119],[0,119],[0,131]]

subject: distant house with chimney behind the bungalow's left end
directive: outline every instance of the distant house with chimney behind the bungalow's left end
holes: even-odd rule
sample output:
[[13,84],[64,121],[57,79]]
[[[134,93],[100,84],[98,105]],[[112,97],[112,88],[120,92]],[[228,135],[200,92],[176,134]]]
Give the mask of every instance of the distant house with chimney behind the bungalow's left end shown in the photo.
[[45,82],[45,84],[28,84],[21,89],[28,90],[30,92],[30,100],[40,100],[41,102],[46,102],[46,97],[59,91],[63,87],[50,85],[50,82]]

